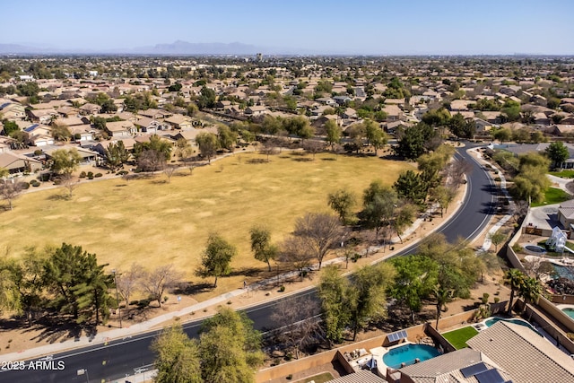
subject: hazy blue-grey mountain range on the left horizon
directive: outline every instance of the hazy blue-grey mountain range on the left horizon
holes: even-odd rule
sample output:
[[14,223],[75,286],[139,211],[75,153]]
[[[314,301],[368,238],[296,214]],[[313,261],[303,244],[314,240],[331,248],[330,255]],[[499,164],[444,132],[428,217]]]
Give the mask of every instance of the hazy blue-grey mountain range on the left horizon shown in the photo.
[[[113,55],[255,55],[257,53],[290,53],[281,52],[281,49],[256,47],[254,45],[232,42],[225,44],[214,43],[191,43],[177,40],[172,44],[157,44],[150,47],[138,48],[111,48],[111,49],[86,49],[86,48],[41,48],[19,44],[0,44],[0,55],[63,55],[63,54],[113,54]],[[292,52],[291,52],[292,53]]]

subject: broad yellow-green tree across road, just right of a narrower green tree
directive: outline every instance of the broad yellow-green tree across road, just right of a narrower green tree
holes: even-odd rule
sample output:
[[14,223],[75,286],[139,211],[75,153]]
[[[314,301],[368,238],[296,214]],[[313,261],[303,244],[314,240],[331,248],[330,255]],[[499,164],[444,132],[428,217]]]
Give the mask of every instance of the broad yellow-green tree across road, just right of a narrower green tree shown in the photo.
[[387,288],[395,278],[395,269],[388,263],[362,266],[352,275],[348,310],[352,321],[352,340],[368,320],[387,315]]

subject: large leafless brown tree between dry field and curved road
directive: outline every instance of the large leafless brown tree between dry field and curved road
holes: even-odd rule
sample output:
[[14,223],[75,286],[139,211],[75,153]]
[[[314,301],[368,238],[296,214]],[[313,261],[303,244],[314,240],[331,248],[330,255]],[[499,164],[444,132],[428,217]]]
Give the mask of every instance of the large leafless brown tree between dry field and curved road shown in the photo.
[[329,248],[343,239],[339,218],[327,213],[307,213],[295,222],[293,234],[300,237],[309,254],[317,258],[319,270]]

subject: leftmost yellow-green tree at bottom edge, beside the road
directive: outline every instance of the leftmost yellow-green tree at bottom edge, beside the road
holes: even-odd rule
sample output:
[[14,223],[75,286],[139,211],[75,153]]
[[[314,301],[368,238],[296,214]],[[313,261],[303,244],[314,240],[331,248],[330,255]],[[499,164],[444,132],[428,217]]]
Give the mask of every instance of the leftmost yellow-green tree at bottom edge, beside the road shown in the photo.
[[196,340],[189,339],[180,324],[164,328],[152,342],[157,354],[156,383],[201,383],[201,356]]

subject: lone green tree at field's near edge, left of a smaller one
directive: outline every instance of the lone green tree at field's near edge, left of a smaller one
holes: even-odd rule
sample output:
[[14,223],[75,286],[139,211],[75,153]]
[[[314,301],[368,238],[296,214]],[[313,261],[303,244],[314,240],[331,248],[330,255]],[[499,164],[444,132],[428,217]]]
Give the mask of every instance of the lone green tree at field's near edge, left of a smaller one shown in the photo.
[[214,276],[213,287],[217,287],[217,279],[220,276],[229,275],[231,272],[231,258],[237,255],[237,248],[223,239],[217,233],[211,233],[207,239],[207,246],[201,257],[201,267],[196,275],[202,278]]

